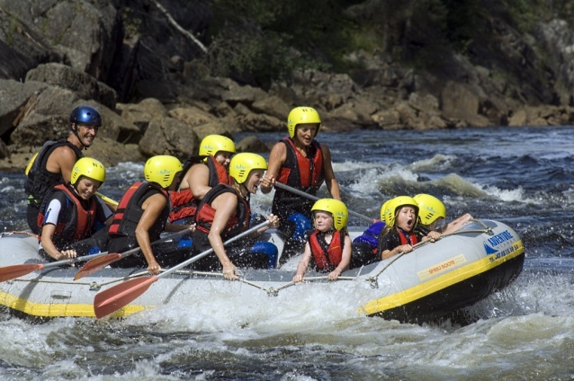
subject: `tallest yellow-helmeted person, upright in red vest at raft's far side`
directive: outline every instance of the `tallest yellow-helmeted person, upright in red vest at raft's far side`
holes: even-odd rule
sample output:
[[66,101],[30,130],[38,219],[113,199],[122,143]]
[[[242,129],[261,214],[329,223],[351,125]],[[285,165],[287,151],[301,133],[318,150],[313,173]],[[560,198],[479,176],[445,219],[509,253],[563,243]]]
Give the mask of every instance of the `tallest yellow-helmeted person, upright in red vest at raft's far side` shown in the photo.
[[[274,182],[282,182],[297,190],[303,190],[309,195],[315,195],[323,182],[327,185],[333,199],[341,199],[339,184],[331,164],[329,148],[318,143],[318,130],[321,119],[312,107],[296,107],[287,118],[289,137],[280,140],[269,155],[269,169],[261,183],[261,191],[269,193],[274,188]],[[275,189],[271,212],[279,216],[282,227],[287,235],[296,230],[296,221],[290,217],[306,217],[311,219],[312,201],[287,190]],[[310,226],[310,222],[309,226]],[[302,249],[301,242],[299,250]],[[282,255],[282,259],[285,258]]]

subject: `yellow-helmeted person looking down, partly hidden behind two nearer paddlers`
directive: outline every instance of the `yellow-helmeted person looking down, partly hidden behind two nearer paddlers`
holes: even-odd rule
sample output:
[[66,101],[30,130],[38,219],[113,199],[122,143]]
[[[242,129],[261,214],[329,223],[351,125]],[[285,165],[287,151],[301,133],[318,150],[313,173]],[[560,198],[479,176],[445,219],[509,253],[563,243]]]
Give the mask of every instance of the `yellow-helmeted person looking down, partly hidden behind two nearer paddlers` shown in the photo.
[[219,183],[230,184],[229,161],[233,154],[235,143],[229,137],[208,135],[202,139],[199,156],[187,160],[179,189],[169,194],[172,204],[169,222],[192,224],[205,193]]

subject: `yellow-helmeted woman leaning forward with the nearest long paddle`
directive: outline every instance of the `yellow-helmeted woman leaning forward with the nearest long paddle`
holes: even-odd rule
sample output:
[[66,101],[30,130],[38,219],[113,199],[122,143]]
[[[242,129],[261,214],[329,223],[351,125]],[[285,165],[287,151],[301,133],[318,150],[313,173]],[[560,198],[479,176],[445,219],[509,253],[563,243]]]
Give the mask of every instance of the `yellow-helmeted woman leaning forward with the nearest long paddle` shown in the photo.
[[[249,227],[249,196],[256,193],[266,169],[267,163],[260,155],[235,155],[229,163],[231,185],[220,183],[205,194],[195,213],[192,255],[213,248],[219,261],[213,261],[208,256],[196,261],[193,264],[195,269],[222,269],[225,279],[234,280],[238,276],[236,263],[240,266],[267,267],[268,258],[265,254],[256,258],[253,253],[247,253],[252,244],[250,240],[223,247],[224,240]],[[278,217],[270,215],[267,219],[271,227],[279,226]],[[263,230],[257,233],[263,233]]]

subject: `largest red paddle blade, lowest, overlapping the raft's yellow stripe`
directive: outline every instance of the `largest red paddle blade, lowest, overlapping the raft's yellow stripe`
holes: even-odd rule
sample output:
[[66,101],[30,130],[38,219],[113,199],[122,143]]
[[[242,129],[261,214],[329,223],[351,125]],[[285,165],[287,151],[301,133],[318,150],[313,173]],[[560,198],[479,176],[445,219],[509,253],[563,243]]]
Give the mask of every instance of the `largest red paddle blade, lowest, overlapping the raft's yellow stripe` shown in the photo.
[[103,316],[116,312],[121,307],[129,305],[132,300],[146,292],[149,286],[157,279],[155,275],[153,277],[130,279],[112,288],[98,292],[94,297],[95,317],[100,319]]

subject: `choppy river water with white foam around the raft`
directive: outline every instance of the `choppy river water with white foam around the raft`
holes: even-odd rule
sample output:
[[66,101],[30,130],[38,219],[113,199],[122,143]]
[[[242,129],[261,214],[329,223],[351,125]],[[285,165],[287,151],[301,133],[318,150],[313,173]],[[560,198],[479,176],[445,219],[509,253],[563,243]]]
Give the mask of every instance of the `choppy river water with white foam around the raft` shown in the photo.
[[[343,199],[354,211],[378,217],[384,200],[427,192],[444,199],[448,218],[470,212],[502,221],[522,237],[523,273],[469,307],[462,322],[417,325],[358,316],[341,300],[348,296],[313,294],[305,286],[300,303],[285,302],[275,311],[265,299],[247,308],[217,297],[203,301],[213,305],[211,315],[172,306],[121,321],[38,323],[0,311],[0,379],[573,379],[573,132],[563,127],[319,134],[331,149]],[[101,191],[120,199],[142,167],[109,169]],[[25,228],[23,175],[0,173],[0,179],[0,228]],[[252,204],[268,213],[271,198],[258,194]],[[350,223],[363,225],[354,217]]]

